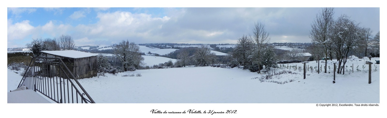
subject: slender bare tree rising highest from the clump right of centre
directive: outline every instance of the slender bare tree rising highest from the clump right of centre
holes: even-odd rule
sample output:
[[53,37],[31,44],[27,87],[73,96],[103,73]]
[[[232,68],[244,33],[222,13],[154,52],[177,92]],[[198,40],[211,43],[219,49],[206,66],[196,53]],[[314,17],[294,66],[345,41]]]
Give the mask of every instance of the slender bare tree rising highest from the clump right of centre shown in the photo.
[[[265,25],[262,23],[255,23],[253,28],[253,37],[252,43],[253,45],[253,62],[257,63],[260,67],[262,64],[262,55],[263,50],[265,50],[265,46],[270,42],[269,33],[266,32]],[[258,70],[260,73],[260,69]]]

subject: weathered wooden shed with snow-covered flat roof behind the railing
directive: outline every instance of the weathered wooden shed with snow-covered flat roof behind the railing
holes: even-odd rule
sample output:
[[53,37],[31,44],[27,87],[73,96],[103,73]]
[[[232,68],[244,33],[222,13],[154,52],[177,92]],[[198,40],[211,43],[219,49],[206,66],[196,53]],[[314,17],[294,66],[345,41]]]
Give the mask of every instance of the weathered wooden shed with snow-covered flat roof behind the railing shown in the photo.
[[72,71],[75,77],[92,78],[97,76],[97,55],[88,52],[80,52],[76,50],[60,50],[60,51],[41,51],[43,54],[52,55],[62,58],[67,68]]

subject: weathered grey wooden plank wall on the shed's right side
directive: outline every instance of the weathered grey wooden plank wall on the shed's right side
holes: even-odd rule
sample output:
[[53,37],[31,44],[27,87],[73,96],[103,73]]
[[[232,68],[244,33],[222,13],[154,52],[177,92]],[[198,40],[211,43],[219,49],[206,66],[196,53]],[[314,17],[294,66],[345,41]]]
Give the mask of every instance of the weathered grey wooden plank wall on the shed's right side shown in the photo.
[[[98,66],[97,56],[76,58],[74,59],[74,76],[82,76],[89,73],[92,70],[96,70]],[[92,75],[97,76],[97,75]],[[87,76],[87,78],[92,77]]]

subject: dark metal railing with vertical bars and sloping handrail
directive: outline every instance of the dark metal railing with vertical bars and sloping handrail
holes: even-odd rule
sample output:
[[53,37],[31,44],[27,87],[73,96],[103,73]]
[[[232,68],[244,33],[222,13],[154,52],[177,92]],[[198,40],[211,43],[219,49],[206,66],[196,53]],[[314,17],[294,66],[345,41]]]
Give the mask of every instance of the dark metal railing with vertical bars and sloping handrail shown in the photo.
[[[37,59],[43,59],[44,61],[40,61],[40,62],[34,61]],[[53,61],[47,61],[47,59],[53,59]],[[57,62],[54,62],[54,61],[57,61]],[[58,66],[58,69],[57,69],[57,66]],[[59,71],[59,73],[57,73],[57,71]],[[72,82],[70,77],[74,79],[76,84]],[[59,78],[59,81],[58,81],[58,78]],[[67,86],[66,86],[65,80],[67,81]],[[62,85],[62,82],[63,82],[63,85]],[[55,86],[55,83],[57,84],[56,86]],[[69,84],[71,85],[70,87],[68,86]],[[51,100],[57,103],[66,103],[66,99],[68,103],[70,103],[70,96],[72,99],[72,103],[74,103],[74,97],[76,97],[75,98],[76,103],[79,102],[78,101],[79,99],[82,103],[84,102],[95,103],[94,100],[90,97],[90,95],[86,92],[86,90],[82,87],[82,85],[78,82],[78,79],[74,76],[73,73],[71,73],[70,69],[67,68],[66,64],[60,58],[33,57],[33,59],[31,60],[30,64],[27,67],[26,72],[24,73],[24,76],[21,82],[18,85],[18,88],[21,87],[22,85],[25,85],[27,89],[33,89],[34,91],[40,92],[41,94],[45,95],[46,97],[50,98]],[[81,91],[78,89],[77,86],[81,89]],[[71,88],[71,95],[70,95],[70,88]],[[59,92],[59,89],[60,89],[60,92]],[[75,89],[75,96],[74,96],[74,89]],[[66,95],[66,91],[67,91],[67,95]],[[80,98],[78,98],[78,95],[80,96]],[[86,95],[87,98],[84,97],[84,95]]]

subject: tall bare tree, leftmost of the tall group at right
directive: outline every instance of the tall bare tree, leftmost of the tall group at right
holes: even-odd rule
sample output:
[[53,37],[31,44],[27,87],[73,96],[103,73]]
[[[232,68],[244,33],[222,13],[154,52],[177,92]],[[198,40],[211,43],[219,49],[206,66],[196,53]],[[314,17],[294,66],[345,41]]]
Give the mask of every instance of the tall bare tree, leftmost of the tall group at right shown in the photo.
[[[310,30],[309,38],[312,39],[312,43],[319,47],[324,52],[325,67],[324,73],[327,73],[327,58],[328,52],[331,52],[329,30],[333,24],[334,8],[322,8],[322,10],[316,15],[316,18],[311,24],[312,30]],[[330,57],[332,54],[330,53]],[[320,60],[320,59],[318,59]]]

